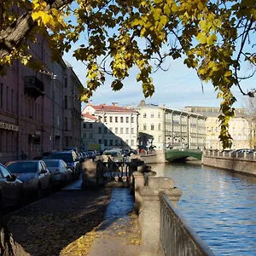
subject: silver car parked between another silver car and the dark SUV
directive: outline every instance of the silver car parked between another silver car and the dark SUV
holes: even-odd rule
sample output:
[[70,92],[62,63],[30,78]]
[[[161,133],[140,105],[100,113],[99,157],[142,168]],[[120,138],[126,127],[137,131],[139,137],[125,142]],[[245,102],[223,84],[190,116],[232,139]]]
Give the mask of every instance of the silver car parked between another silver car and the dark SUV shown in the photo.
[[44,163],[50,172],[53,185],[63,186],[73,181],[73,172],[63,160],[46,159]]

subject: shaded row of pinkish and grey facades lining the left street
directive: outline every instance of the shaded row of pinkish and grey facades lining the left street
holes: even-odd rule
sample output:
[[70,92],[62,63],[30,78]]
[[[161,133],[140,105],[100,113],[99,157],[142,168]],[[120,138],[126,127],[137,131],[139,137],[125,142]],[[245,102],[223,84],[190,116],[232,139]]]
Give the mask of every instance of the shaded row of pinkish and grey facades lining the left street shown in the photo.
[[[33,159],[54,149],[80,148],[78,96],[82,84],[64,61],[50,61],[50,49],[44,38],[38,37],[38,42],[32,44],[32,55],[44,62],[44,72],[35,72],[15,61],[6,77],[0,77],[1,163],[20,159],[21,150]],[[77,98],[70,97],[73,93]],[[72,109],[67,109],[67,104]],[[67,119],[71,131],[68,135]]]

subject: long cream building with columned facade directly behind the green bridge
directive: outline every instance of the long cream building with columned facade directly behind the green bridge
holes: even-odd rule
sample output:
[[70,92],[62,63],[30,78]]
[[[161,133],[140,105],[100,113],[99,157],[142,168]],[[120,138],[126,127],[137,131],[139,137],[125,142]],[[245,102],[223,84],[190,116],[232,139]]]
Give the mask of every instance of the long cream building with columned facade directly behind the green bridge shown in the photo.
[[142,101],[139,113],[140,148],[204,148],[205,117]]

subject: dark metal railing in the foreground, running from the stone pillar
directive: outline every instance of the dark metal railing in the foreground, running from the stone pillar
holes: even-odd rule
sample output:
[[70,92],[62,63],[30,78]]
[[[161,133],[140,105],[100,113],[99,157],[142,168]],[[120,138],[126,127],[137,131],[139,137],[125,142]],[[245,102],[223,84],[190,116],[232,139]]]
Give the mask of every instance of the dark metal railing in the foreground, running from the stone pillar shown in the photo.
[[162,192],[160,193],[160,255],[214,255]]

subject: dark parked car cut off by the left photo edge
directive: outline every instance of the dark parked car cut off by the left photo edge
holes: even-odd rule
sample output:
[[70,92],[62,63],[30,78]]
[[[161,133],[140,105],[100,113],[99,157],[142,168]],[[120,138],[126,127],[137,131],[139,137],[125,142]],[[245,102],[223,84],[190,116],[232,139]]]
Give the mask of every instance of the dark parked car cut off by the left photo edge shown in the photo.
[[0,164],[0,210],[20,205],[23,183],[6,166]]

